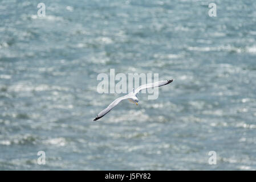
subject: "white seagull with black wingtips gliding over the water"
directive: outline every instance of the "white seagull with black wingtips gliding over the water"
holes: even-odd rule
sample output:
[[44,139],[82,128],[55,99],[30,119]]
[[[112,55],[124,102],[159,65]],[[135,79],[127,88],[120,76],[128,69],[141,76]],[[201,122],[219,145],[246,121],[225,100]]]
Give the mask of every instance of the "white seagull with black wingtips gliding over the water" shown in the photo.
[[137,89],[133,89],[132,92],[128,93],[127,95],[123,96],[123,97],[119,97],[117,98],[115,101],[113,101],[111,104],[109,104],[109,106],[107,108],[105,108],[103,111],[101,111],[96,118],[94,119],[94,121],[96,121],[97,119],[102,118],[104,115],[106,115],[109,111],[111,111],[111,109],[113,109],[113,107],[115,107],[117,104],[119,104],[119,102],[123,101],[123,100],[129,100],[130,102],[138,105],[139,99],[137,98],[137,94],[144,89],[149,89],[149,88],[153,88],[156,86],[164,86],[169,84],[170,82],[172,82],[173,80],[164,80],[164,81],[157,81],[155,83],[151,83],[151,84],[145,84],[145,85],[141,85],[139,86]]

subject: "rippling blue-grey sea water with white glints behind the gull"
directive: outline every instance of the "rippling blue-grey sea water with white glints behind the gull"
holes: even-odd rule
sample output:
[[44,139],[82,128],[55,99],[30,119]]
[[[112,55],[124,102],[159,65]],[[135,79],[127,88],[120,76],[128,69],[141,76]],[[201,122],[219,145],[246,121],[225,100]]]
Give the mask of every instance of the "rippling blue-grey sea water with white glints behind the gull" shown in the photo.
[[[40,2],[0,1],[0,170],[256,169],[254,0]],[[174,81],[92,122],[110,69]]]

